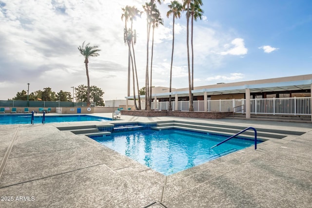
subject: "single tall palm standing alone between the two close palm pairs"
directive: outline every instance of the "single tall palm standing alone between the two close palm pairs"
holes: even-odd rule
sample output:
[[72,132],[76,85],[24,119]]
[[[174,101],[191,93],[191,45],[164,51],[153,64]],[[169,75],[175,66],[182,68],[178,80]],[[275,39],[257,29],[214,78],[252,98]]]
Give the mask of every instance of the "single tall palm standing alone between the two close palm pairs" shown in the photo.
[[[172,64],[174,60],[174,47],[175,47],[175,19],[181,17],[182,12],[182,5],[177,1],[171,1],[171,4],[168,5],[170,10],[167,12],[167,18],[171,14],[173,14],[173,25],[172,25],[172,53],[171,53],[171,66],[170,66],[170,87],[169,87],[169,93],[171,93],[171,84],[172,84]],[[168,111],[172,111],[172,105],[171,105],[171,95],[169,95],[169,107]]]

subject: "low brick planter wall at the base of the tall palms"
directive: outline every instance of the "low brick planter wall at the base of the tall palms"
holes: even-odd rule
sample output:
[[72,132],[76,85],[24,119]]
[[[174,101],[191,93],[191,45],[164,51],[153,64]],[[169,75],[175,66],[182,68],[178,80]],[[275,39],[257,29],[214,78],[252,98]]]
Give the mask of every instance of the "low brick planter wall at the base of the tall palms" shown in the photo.
[[231,115],[231,112],[225,113],[210,113],[210,112],[187,112],[187,111],[121,111],[122,115],[134,115],[142,117],[155,117],[155,116],[175,116],[187,118],[206,118],[206,119],[219,119]]

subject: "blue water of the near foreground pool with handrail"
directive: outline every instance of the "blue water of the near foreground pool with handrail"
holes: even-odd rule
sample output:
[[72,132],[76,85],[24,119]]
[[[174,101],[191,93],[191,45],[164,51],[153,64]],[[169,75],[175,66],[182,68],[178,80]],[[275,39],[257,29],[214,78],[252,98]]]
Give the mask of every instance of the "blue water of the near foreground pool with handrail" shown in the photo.
[[[254,140],[184,130],[118,132],[92,139],[164,175],[195,167],[254,145]],[[260,141],[259,141],[260,143]]]

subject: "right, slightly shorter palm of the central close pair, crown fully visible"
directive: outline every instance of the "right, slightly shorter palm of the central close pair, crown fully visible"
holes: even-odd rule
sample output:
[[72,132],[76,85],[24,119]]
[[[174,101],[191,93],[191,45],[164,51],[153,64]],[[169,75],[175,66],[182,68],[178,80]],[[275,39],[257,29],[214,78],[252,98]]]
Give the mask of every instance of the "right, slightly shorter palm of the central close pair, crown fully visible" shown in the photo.
[[[154,4],[153,12],[152,12],[152,27],[153,27],[153,35],[152,35],[152,54],[151,54],[151,76],[150,76],[150,96],[152,96],[152,72],[153,72],[153,54],[154,54],[154,32],[155,28],[159,26],[159,24],[163,25],[163,19],[160,17],[160,12]],[[150,106],[152,106],[152,99],[149,99]]]

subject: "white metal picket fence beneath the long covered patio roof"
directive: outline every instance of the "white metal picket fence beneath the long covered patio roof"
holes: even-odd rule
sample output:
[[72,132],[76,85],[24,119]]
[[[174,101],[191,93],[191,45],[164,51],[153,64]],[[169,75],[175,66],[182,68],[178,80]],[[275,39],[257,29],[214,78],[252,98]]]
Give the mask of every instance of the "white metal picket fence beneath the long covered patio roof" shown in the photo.
[[[171,102],[172,109],[175,109],[176,102]],[[189,111],[189,101],[178,101],[178,111]],[[204,112],[205,101],[196,100],[193,102],[194,111]],[[141,104],[142,109],[145,103]],[[169,102],[157,102],[155,108],[152,103],[152,110],[167,111]],[[252,114],[292,114],[311,115],[311,97],[289,97],[289,98],[261,98],[250,99]],[[246,99],[232,100],[208,100],[207,112],[246,112]]]

